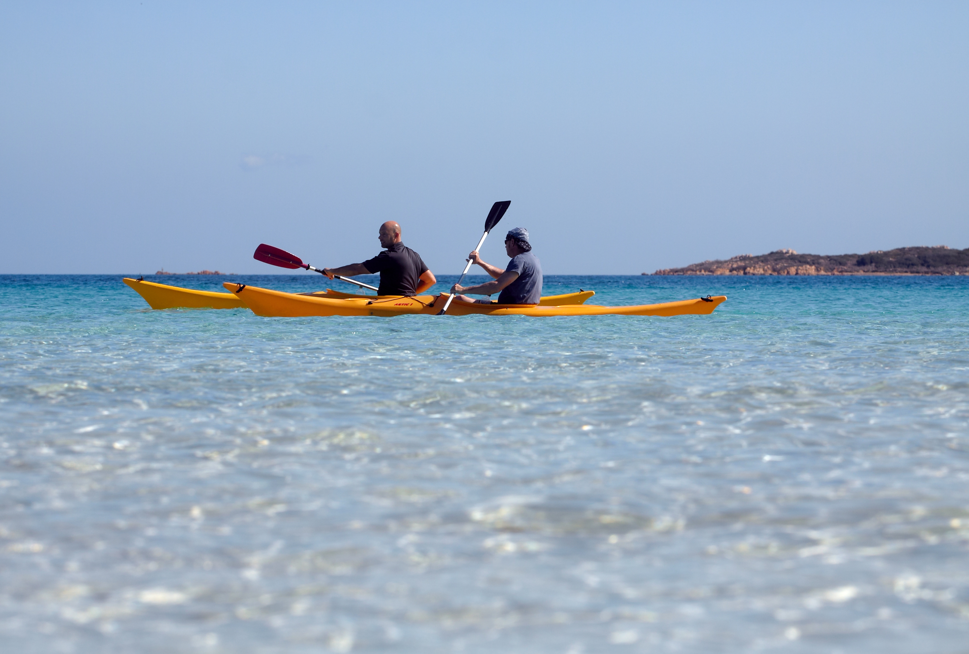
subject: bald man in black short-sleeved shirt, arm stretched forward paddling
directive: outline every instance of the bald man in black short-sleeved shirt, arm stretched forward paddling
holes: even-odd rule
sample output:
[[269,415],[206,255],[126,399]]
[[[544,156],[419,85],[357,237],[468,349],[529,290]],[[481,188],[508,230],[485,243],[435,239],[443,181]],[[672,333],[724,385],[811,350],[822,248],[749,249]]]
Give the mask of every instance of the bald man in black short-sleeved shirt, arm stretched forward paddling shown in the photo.
[[437,283],[437,278],[424,265],[421,255],[400,242],[400,226],[397,223],[389,220],[381,225],[377,237],[387,252],[381,252],[362,264],[324,268],[323,272],[330,279],[333,275],[353,277],[379,272],[378,296],[417,296]]

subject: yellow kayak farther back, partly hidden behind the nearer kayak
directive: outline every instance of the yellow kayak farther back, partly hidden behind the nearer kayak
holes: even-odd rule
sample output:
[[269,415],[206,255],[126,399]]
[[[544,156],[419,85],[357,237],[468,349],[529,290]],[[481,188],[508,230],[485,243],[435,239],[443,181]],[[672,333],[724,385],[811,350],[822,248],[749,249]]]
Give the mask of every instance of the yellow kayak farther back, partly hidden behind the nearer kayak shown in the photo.
[[[146,282],[143,279],[131,279],[130,277],[125,277],[122,281],[135,289],[141,297],[144,297],[144,300],[152,309],[243,309],[246,306],[245,302],[232,293],[183,289],[178,286]],[[230,284],[226,288],[232,287],[234,289],[236,286],[236,284]],[[330,299],[378,299],[377,296],[360,296],[330,289],[316,293],[286,295],[328,297]],[[581,304],[594,295],[596,295],[595,291],[579,291],[578,293],[567,293],[564,296],[545,296],[542,298],[541,304],[543,306]]]

